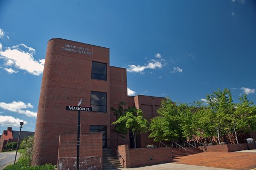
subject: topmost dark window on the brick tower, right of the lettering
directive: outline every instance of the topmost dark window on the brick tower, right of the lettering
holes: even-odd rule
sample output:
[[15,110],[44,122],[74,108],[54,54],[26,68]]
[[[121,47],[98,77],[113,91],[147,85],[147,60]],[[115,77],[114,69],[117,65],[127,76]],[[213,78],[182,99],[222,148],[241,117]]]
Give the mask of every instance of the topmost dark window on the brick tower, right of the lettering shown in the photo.
[[107,64],[92,62],[92,79],[107,80]]

